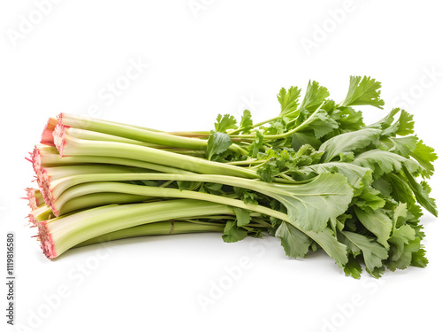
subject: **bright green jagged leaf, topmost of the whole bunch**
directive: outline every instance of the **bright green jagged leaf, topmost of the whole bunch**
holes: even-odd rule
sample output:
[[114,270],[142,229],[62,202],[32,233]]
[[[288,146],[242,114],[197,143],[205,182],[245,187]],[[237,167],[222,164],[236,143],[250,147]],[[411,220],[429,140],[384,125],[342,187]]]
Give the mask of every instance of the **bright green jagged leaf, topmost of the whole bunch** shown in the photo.
[[377,108],[384,106],[380,99],[381,83],[370,79],[370,76],[350,76],[350,87],[347,97],[341,106],[372,105]]

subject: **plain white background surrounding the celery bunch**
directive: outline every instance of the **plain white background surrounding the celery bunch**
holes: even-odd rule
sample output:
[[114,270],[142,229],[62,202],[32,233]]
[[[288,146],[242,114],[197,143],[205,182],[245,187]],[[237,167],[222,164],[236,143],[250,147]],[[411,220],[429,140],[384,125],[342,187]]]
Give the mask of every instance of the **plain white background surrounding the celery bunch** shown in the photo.
[[[287,259],[275,238],[227,244],[218,234],[125,240],[51,262],[30,238],[35,230],[24,227],[28,209],[19,197],[33,179],[24,158],[58,112],[207,130],[217,113],[249,108],[255,120],[271,118],[278,90],[309,79],[339,101],[351,74],[383,83],[385,110],[364,110],[367,122],[406,107],[417,135],[440,153],[438,1],[66,0],[38,9],[41,2],[0,4],[0,256],[4,262],[6,232],[15,232],[16,322],[34,327],[18,330],[435,330],[442,228],[429,214],[430,265],[377,282],[345,277],[323,253]],[[133,62],[139,74],[110,99],[107,87],[124,81]],[[439,165],[431,185],[440,204]],[[226,268],[241,258],[247,268],[204,312],[199,296],[228,280]],[[45,298],[60,287],[65,297],[48,312]]]

